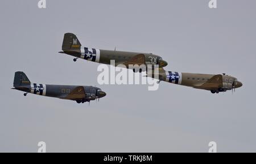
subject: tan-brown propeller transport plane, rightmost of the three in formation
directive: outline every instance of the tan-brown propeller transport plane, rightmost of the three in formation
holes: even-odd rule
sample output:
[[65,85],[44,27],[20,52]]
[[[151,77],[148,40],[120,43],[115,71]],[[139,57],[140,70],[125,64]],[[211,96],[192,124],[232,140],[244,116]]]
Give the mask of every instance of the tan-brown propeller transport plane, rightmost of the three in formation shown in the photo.
[[[152,76],[153,75],[153,76]],[[147,74],[148,77],[155,77]],[[235,90],[242,87],[242,83],[236,77],[228,76],[225,74],[210,75],[210,74],[192,74],[166,71],[159,68],[158,75],[159,82],[167,81],[169,83],[185,85],[196,89],[210,90],[212,93],[226,92],[226,90]]]

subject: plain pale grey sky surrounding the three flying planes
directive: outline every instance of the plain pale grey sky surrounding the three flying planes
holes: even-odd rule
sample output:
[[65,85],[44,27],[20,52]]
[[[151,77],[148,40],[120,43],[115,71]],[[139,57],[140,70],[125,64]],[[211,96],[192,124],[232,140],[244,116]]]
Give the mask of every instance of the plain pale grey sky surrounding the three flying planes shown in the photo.
[[[1,1],[0,152],[256,151],[256,1]],[[98,63],[59,54],[63,34],[84,46],[155,53],[166,70],[226,73],[242,81],[212,94],[170,83],[97,85]],[[32,82],[97,85],[99,103],[11,90],[14,72]]]

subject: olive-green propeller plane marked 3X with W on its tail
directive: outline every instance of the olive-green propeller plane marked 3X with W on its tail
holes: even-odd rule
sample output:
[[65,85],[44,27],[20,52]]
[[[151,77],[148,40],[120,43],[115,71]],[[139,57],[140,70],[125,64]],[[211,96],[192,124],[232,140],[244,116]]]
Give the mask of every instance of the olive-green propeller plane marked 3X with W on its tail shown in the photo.
[[[85,59],[87,61],[110,64],[110,60],[115,60],[115,66],[118,64],[124,64],[127,68],[129,68],[129,64],[147,66],[148,64],[158,64],[159,67],[167,66],[167,62],[163,61],[161,57],[158,55],[154,55],[151,53],[133,53],[127,51],[113,51],[113,50],[101,50],[101,49],[89,49],[86,47],[81,47],[81,44],[73,33],[65,33],[62,50],[59,53],[65,53],[68,55],[72,55],[76,57],[73,59],[74,62],[78,58]],[[134,72],[142,72],[146,70],[142,70],[142,68],[135,69]]]

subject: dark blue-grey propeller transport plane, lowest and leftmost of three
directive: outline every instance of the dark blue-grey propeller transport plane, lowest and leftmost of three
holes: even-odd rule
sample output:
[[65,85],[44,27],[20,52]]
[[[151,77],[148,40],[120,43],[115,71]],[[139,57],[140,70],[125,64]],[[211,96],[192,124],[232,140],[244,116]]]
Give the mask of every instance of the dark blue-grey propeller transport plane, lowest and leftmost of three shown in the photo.
[[24,96],[27,93],[34,93],[42,96],[57,97],[67,100],[75,100],[77,103],[97,100],[106,96],[100,88],[92,86],[76,86],[76,85],[48,85],[31,83],[23,72],[15,72],[14,83],[11,89],[22,90]]

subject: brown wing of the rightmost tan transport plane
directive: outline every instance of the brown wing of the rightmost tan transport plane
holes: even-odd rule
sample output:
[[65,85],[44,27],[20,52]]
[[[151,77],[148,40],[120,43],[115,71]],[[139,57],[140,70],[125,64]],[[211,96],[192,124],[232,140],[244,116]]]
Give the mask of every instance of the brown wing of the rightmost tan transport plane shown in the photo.
[[204,84],[199,85],[198,89],[206,89],[206,90],[215,90],[222,87],[222,75],[214,75],[212,78],[210,78],[208,81],[206,81]]

